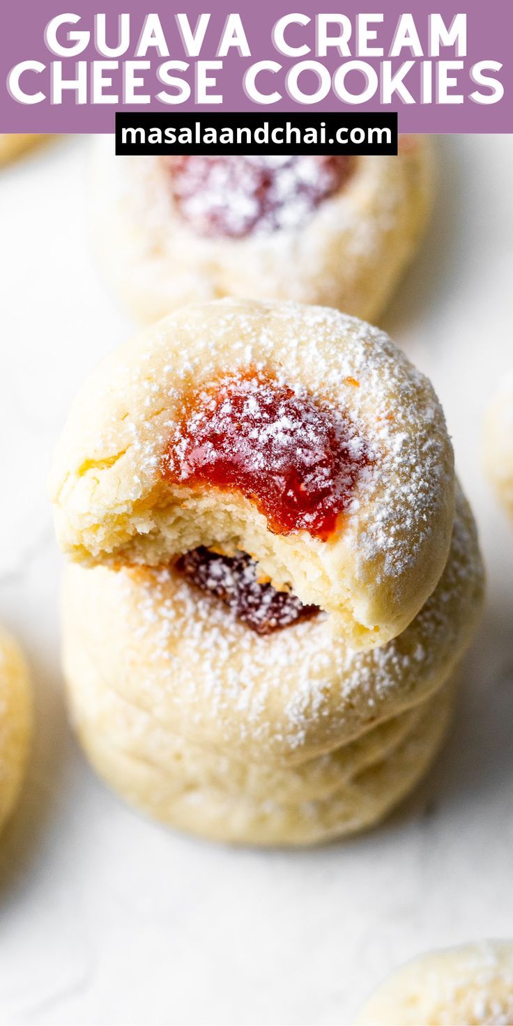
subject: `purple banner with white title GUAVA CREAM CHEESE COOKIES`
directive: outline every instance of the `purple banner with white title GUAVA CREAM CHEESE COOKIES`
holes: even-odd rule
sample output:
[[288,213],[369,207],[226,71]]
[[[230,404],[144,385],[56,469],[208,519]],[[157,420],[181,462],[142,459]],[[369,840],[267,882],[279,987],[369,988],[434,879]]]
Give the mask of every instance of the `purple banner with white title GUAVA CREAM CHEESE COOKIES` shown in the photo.
[[116,110],[397,111],[401,131],[513,130],[509,0],[98,3],[4,5],[1,131],[110,132]]

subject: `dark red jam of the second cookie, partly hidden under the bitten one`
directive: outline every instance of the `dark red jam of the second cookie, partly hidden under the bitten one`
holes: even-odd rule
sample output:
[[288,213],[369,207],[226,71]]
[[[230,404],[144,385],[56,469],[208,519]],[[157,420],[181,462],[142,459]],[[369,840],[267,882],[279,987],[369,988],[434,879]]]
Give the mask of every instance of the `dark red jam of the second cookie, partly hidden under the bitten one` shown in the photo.
[[225,556],[200,546],[181,556],[174,568],[201,591],[221,599],[256,634],[272,634],[319,611],[317,605],[303,605],[295,595],[277,591],[259,578],[258,563],[245,552]]

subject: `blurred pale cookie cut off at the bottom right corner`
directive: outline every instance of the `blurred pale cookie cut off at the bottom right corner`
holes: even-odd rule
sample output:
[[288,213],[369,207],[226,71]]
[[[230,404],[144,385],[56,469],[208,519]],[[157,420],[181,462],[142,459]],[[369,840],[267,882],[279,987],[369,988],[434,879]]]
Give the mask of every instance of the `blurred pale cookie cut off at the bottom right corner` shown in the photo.
[[355,1026],[511,1026],[513,942],[423,955],[394,973]]

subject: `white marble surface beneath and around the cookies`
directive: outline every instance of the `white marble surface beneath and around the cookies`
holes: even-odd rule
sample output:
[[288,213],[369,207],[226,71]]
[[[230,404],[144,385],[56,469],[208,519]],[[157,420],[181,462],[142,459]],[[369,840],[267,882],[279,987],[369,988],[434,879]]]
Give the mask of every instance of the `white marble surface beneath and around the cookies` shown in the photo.
[[0,619],[37,685],[29,780],[0,840],[0,1022],[347,1024],[404,959],[513,934],[513,532],[479,456],[513,364],[513,136],[439,141],[432,231],[384,319],[434,380],[481,529],[488,598],[459,714],[399,814],[298,853],[146,822],[66,725],[44,479],[72,394],[130,329],[88,252],[86,155],[60,140],[0,175]]

